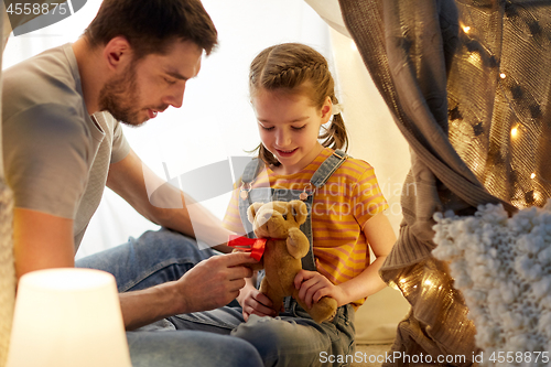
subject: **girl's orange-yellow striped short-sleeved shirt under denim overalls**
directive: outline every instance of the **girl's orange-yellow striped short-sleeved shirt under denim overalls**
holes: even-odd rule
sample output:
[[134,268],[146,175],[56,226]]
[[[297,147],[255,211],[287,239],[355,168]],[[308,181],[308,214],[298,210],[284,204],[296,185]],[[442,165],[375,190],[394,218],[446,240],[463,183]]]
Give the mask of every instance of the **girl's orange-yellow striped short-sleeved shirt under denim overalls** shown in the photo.
[[[252,188],[272,187],[304,190],[320,165],[333,154],[325,148],[312,163],[290,175],[262,170]],[[237,184],[239,187],[240,183]],[[224,217],[224,226],[245,234],[239,217],[239,190],[234,190]],[[377,183],[374,168],[361,160],[348,158],[324,186],[316,190],[312,203],[312,231],[317,271],[334,284],[361,273],[369,266],[369,244],[361,230],[366,222],[388,207]],[[355,307],[365,299],[353,302]]]

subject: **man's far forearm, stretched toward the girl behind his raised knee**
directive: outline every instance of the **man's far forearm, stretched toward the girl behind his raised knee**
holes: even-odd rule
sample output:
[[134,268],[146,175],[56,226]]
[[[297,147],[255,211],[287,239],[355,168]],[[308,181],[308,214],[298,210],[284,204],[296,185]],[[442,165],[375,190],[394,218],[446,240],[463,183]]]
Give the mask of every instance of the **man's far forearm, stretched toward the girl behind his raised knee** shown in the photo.
[[[145,182],[150,187],[159,187],[151,199]],[[164,183],[132,150],[120,162],[110,165],[107,186],[151,222],[201,238],[223,252],[230,252],[226,242],[231,231],[225,229],[218,218],[193,198]]]

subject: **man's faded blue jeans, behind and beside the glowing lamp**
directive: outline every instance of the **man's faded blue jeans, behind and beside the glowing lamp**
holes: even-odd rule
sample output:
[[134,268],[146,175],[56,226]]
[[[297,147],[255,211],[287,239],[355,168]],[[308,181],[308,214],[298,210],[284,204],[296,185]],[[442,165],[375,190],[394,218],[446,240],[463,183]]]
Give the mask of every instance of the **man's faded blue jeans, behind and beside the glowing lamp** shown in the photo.
[[[214,255],[210,249],[199,250],[195,240],[161,228],[83,258],[76,267],[110,272],[119,292],[127,292],[177,280],[197,262]],[[262,366],[258,352],[244,339],[176,331],[166,320],[127,332],[127,339],[133,367]]]

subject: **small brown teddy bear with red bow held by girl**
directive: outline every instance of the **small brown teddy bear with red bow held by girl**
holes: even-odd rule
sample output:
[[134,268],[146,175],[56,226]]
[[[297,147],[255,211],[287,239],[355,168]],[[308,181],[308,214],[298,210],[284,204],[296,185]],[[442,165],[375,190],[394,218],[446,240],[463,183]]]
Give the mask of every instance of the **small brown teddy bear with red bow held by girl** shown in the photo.
[[301,201],[253,203],[247,211],[247,217],[255,235],[267,239],[261,262],[266,276],[260,283],[260,292],[272,301],[273,310],[279,312],[283,299],[292,295],[315,322],[332,319],[337,309],[335,299],[323,296],[307,307],[294,288],[294,278],[302,269],[301,259],[310,250],[309,239],[300,230],[300,225],[306,222],[306,204]]

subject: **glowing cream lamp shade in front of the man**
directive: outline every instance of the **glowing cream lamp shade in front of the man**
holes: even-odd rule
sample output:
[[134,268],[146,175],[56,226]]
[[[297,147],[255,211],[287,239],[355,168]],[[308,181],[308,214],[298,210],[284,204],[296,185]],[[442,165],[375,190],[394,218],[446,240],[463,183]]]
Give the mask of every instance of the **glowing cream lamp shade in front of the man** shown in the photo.
[[130,367],[115,278],[91,269],[21,277],[8,367]]

